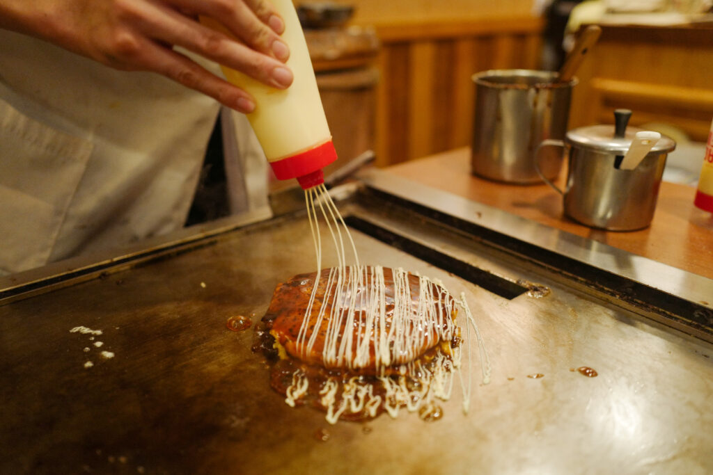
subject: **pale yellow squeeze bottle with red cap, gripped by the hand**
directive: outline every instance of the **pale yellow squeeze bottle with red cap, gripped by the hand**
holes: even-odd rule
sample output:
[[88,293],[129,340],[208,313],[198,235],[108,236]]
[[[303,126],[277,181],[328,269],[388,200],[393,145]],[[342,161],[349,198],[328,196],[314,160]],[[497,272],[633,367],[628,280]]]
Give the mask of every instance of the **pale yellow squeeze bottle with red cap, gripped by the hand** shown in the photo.
[[[225,66],[221,68],[230,83],[255,98],[255,110],[247,114],[247,120],[277,179],[297,178],[300,186],[308,189],[324,183],[322,167],[337,160],[337,151],[297,11],[292,0],[272,0],[272,4],[284,20],[282,40],[289,46],[287,66],[294,75],[292,85],[280,90]],[[226,32],[213,19],[202,17],[201,21]]]

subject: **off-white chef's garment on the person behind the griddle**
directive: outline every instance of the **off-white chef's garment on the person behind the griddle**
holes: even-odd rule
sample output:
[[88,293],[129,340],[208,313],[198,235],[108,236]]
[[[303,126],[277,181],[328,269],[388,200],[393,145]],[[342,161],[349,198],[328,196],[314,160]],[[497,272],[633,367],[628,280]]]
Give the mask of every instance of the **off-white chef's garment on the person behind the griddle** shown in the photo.
[[[183,226],[215,100],[19,33],[0,45],[0,274]],[[260,145],[224,112],[231,208],[269,215]]]

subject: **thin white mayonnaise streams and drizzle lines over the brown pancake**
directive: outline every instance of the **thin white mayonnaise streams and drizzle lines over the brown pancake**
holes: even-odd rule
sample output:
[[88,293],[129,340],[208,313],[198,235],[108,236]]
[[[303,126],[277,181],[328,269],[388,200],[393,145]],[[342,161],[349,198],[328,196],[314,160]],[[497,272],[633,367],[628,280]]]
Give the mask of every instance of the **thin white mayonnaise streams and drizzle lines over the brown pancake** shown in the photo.
[[[429,367],[418,360],[420,352],[426,346],[432,346],[432,339],[450,342],[460,335],[466,343],[468,360],[468,379],[463,380],[459,372],[463,391],[463,412],[468,412],[471,399],[471,362],[470,334],[473,329],[478,342],[483,384],[490,381],[491,365],[483,343],[480,330],[464,294],[454,298],[440,282],[433,282],[425,276],[419,276],[419,295],[411,295],[409,273],[402,268],[392,269],[394,280],[394,310],[391,324],[387,326],[386,285],[384,268],[381,266],[362,266],[356,253],[356,246],[347,225],[339,214],[337,206],[329,196],[324,184],[304,191],[309,226],[317,255],[317,275],[312,285],[307,310],[304,313],[295,345],[306,356],[312,352],[317,341],[317,333],[324,319],[327,319],[326,335],[322,360],[326,365],[342,365],[359,369],[369,365],[371,345],[374,345],[376,359],[376,382],[366,382],[352,378],[340,387],[337,380],[330,378],[319,392],[321,402],[327,408],[327,422],[334,424],[339,416],[366,412],[372,417],[383,404],[391,417],[399,414],[401,407],[414,412],[434,398],[448,400],[453,389],[453,372],[460,369],[461,347],[453,348],[451,357],[438,352]],[[331,305],[319,303],[319,310],[313,314],[317,303],[318,283],[322,278],[322,237],[319,229],[319,214],[327,224],[337,251],[338,266],[329,268],[324,296],[332,298]],[[353,262],[347,264],[347,246],[353,256]],[[437,285],[434,286],[433,284]],[[434,293],[434,290],[437,291]],[[329,308],[329,315],[326,315]],[[461,308],[465,314],[466,335],[461,335],[458,325],[451,314]],[[312,321],[314,320],[314,321]],[[310,325],[312,323],[313,325]],[[310,332],[310,326],[314,332]],[[342,333],[342,328],[347,329]],[[352,328],[359,328],[354,332]],[[373,338],[372,338],[373,333]],[[355,341],[356,338],[356,341]],[[373,343],[372,343],[373,342]],[[387,367],[402,362],[398,380],[385,375]],[[411,388],[406,376],[411,378]],[[413,384],[416,382],[416,384]],[[384,399],[374,394],[374,384],[381,385],[385,391]],[[294,406],[295,400],[307,393],[309,381],[302,370],[292,375],[292,384],[287,388],[285,402]],[[339,395],[341,390],[341,395]]]

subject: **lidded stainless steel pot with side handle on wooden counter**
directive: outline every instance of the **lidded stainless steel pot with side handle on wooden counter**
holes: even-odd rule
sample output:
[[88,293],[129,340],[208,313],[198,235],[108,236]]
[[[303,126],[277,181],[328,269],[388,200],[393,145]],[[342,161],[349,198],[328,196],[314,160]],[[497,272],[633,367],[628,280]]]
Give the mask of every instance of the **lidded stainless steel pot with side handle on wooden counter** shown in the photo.
[[615,138],[612,125],[593,125],[570,130],[565,140],[550,139],[540,144],[538,158],[544,150],[568,153],[564,190],[543,177],[563,195],[566,216],[609,231],[635,231],[651,224],[666,157],[676,143],[662,136],[635,169],[617,169],[617,157],[626,154],[640,130],[629,127],[625,137]]

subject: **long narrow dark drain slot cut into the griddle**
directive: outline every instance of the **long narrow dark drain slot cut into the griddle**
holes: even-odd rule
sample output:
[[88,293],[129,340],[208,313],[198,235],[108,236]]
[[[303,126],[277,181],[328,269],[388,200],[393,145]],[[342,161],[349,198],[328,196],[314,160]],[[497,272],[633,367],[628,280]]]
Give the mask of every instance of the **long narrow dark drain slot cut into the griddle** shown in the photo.
[[476,284],[476,286],[486,289],[486,291],[495,293],[508,300],[512,300],[528,291],[528,288],[520,286],[518,283],[508,281],[488,271],[483,271],[483,269],[473,266],[473,264],[463,262],[453,256],[448,256],[448,254],[443,254],[441,251],[429,246],[424,246],[424,244],[396,234],[364,219],[356,216],[347,216],[344,218],[344,221],[348,226],[357,231],[361,231],[374,239],[389,244],[389,246],[411,254],[411,256],[441,268],[443,271],[453,273],[470,283]]

